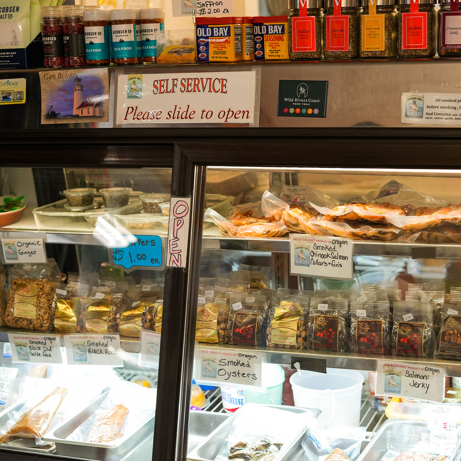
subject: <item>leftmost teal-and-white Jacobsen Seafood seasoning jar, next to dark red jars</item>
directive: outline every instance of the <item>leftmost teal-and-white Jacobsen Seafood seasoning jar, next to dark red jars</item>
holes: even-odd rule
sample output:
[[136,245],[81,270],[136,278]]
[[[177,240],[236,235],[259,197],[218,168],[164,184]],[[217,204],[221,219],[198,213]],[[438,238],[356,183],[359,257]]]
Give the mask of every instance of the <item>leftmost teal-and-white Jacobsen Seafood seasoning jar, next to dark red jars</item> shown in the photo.
[[104,10],[84,11],[83,26],[87,64],[109,64],[109,12]]

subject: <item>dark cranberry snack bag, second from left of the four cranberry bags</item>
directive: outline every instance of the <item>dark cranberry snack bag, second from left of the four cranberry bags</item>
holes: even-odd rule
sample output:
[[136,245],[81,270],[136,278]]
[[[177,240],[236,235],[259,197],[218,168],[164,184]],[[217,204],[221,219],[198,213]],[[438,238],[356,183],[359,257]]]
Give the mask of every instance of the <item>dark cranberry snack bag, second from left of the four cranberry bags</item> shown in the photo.
[[346,352],[349,300],[333,296],[311,298],[307,322],[307,349]]

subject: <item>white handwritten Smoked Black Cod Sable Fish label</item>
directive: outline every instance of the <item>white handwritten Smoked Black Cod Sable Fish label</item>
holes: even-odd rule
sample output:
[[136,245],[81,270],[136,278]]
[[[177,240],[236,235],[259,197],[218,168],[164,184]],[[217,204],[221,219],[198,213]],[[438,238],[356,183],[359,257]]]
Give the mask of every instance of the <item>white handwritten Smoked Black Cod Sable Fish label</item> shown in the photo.
[[60,336],[8,333],[13,363],[63,363]]

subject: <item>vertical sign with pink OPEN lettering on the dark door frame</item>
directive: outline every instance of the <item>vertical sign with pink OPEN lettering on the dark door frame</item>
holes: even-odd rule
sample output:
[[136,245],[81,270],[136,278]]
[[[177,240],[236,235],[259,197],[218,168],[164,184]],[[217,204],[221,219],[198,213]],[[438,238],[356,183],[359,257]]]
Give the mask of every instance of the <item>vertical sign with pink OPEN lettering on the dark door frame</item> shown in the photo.
[[186,267],[189,239],[190,198],[171,197],[168,225],[168,267]]

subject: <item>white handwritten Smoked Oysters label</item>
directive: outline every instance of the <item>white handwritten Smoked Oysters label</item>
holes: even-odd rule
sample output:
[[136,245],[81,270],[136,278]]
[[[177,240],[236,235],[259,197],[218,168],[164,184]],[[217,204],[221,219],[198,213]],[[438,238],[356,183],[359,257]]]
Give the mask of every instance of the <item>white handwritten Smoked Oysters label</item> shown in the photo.
[[196,382],[263,389],[261,364],[266,362],[266,354],[196,348],[195,360]]

